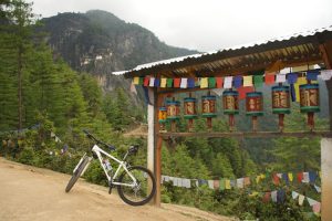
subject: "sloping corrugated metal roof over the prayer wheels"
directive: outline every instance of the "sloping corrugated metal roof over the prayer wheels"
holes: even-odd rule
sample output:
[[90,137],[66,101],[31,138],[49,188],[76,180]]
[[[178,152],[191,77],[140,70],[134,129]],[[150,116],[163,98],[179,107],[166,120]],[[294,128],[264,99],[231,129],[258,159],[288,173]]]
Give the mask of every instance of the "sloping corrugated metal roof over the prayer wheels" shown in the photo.
[[[329,33],[329,39],[332,39],[332,25],[222,50],[141,64],[133,70],[114,74],[121,73],[125,74],[126,77],[132,77],[135,75],[172,71],[172,74],[180,76],[189,72],[204,74],[227,70],[231,72],[231,70],[237,69],[240,72],[241,67],[246,69],[246,65],[257,65],[262,64],[262,62],[269,65],[276,60],[287,61],[298,59],[300,61],[300,59],[305,59],[305,56],[310,60],[319,60],[320,51],[318,45],[320,40],[313,36],[323,33]],[[190,70],[187,66],[191,66]],[[263,67],[264,65],[257,66]]]

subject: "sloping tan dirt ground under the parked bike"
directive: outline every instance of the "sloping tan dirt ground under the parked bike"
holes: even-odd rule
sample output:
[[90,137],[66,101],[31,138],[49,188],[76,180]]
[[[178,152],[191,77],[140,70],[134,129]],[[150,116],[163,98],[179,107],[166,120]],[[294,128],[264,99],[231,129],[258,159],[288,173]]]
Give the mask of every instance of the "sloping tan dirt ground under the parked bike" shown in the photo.
[[195,208],[163,204],[131,207],[107,188],[79,180],[70,193],[69,175],[0,158],[0,221],[229,221]]

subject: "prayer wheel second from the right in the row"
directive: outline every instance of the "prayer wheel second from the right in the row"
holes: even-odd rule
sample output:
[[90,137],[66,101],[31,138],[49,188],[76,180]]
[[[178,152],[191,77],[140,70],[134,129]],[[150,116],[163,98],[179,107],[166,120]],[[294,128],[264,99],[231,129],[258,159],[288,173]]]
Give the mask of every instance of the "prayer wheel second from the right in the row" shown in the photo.
[[279,115],[279,130],[283,130],[283,119],[286,114],[290,114],[290,87],[272,87],[272,113]]

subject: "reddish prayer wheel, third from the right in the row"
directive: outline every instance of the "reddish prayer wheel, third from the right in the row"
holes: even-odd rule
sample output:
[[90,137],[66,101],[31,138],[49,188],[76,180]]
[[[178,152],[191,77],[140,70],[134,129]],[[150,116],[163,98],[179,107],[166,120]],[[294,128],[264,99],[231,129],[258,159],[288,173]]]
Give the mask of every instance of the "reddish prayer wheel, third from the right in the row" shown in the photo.
[[263,97],[261,92],[249,92],[246,97],[247,116],[252,117],[252,130],[257,130],[257,117],[263,115]]

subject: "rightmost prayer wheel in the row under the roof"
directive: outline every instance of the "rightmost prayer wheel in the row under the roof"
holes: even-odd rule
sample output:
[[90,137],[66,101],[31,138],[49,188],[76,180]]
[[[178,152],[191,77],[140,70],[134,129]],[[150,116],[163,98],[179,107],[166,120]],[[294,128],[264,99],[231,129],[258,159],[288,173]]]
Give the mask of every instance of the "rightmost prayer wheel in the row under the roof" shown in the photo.
[[319,84],[300,85],[300,110],[308,115],[308,126],[314,128],[313,115],[320,112],[320,91]]

